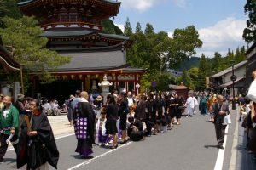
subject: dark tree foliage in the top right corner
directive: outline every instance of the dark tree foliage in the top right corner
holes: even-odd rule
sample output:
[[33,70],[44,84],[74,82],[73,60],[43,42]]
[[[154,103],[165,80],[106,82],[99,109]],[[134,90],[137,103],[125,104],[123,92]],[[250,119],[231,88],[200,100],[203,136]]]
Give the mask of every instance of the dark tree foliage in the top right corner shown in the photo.
[[245,42],[256,42],[256,1],[247,0],[246,5],[244,6],[244,12],[248,14],[249,19],[247,20],[247,27],[243,30],[242,37]]

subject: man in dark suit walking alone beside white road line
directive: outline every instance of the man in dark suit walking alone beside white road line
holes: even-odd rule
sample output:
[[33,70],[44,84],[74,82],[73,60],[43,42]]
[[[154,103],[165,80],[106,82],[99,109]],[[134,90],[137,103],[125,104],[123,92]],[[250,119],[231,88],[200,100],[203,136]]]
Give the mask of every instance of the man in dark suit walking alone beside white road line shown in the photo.
[[223,125],[224,116],[230,114],[229,105],[226,105],[223,101],[224,97],[222,95],[218,95],[218,102],[212,105],[212,122],[215,126],[219,149],[224,149],[223,143],[226,128],[226,125]]

